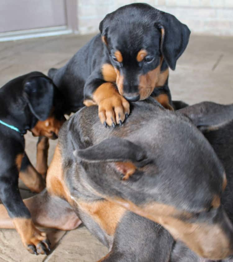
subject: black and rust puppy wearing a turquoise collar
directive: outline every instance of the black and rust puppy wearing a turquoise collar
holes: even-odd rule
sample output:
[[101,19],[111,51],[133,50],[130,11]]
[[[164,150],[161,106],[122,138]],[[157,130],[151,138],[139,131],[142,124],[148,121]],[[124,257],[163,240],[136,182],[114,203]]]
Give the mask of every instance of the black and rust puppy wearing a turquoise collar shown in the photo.
[[[23,203],[19,188],[20,177],[33,191],[43,189],[39,177],[20,172],[24,156],[24,134],[57,138],[64,116],[57,108],[58,90],[53,81],[40,72],[19,76],[0,89],[0,199],[13,218],[24,246],[33,253],[49,249],[46,234],[35,228]],[[25,156],[27,159],[27,156]],[[40,188],[42,186],[42,188]],[[35,189],[35,190],[34,190]]]

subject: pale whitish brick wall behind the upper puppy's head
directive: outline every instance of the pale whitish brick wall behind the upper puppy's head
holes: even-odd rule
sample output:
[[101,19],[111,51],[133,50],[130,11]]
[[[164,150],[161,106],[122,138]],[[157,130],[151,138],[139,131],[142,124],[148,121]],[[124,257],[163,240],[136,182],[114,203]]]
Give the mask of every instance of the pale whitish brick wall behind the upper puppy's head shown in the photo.
[[103,17],[118,7],[146,2],[175,15],[192,33],[233,35],[233,0],[77,0],[78,28],[81,34],[98,32]]

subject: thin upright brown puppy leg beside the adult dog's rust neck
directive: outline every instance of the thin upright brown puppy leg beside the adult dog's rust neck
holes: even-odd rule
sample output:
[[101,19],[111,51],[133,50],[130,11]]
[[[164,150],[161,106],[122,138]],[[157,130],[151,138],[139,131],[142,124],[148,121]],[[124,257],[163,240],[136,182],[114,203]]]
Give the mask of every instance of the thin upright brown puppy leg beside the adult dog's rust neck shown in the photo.
[[48,138],[39,137],[36,146],[36,170],[44,179],[48,170],[48,148]]

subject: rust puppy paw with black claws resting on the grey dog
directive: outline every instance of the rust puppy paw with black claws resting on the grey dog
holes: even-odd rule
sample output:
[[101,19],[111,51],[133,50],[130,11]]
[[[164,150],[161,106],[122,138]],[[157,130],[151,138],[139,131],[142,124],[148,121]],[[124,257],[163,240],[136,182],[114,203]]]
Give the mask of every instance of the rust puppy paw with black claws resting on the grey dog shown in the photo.
[[129,102],[118,93],[103,99],[99,103],[99,118],[105,126],[121,125],[129,113]]

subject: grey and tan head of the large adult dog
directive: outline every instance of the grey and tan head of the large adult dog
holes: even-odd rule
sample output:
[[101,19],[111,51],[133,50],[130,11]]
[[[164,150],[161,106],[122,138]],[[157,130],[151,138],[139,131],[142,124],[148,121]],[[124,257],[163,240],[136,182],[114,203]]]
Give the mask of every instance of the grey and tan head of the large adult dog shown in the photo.
[[[94,145],[75,152],[90,187],[161,224],[202,257],[232,255],[233,227],[220,202],[224,167],[194,124],[182,114],[140,102],[126,123],[112,130],[102,128],[94,110],[80,112],[88,111],[96,120],[89,122],[92,127],[80,123],[78,131]],[[209,127],[217,124],[211,119],[210,114],[205,121]],[[87,135],[93,130],[94,135]],[[129,179],[121,180],[127,174]]]

